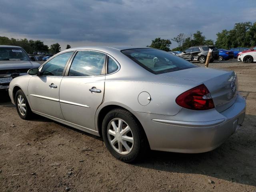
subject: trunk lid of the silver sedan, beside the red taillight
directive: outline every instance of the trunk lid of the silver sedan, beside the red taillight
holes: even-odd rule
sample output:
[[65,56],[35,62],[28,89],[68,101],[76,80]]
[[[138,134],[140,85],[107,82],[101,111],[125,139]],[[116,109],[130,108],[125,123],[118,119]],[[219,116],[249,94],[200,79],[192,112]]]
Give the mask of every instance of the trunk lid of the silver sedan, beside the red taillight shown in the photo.
[[238,78],[234,71],[196,67],[160,74],[183,80],[193,81],[197,85],[204,84],[210,91],[214,106],[218,112],[229,108],[236,100]]

